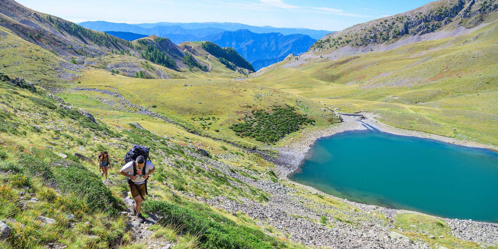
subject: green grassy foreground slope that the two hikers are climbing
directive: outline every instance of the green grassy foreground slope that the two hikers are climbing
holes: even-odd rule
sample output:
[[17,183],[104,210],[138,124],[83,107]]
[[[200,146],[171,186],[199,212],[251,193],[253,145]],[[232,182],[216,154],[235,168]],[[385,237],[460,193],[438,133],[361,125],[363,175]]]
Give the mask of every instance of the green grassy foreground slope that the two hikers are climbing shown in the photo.
[[[70,249],[148,248],[149,245],[133,243],[125,217],[117,214],[123,210],[118,196],[127,191],[123,177],[118,174],[119,160],[132,143],[151,146],[151,158],[157,167],[149,180],[150,195],[144,210],[164,218],[148,228],[154,233],[151,238],[173,242],[175,249],[231,248],[228,245],[305,248],[290,242],[288,235],[264,222],[195,200],[225,196],[266,203],[271,196],[240,180],[246,177],[295,189],[292,195],[304,200],[307,208],[327,207],[324,212],[332,218],[324,223],[326,226],[344,223],[353,229],[360,221],[384,219],[383,215],[366,213],[341,200],[278,179],[269,173],[274,165],[258,154],[188,133],[175,124],[104,106],[92,108],[93,102],[85,96],[78,96],[79,99],[75,96],[71,103],[64,104],[46,97],[42,90],[33,93],[6,83],[0,83],[0,96],[0,219],[6,219],[12,228],[12,235],[0,243],[1,248],[38,249],[49,243]],[[98,112],[97,124],[79,114],[76,107],[69,107],[73,103],[94,114]],[[197,147],[206,148],[212,159],[200,155]],[[72,155],[78,152],[95,160],[101,150],[110,151],[114,166],[110,169],[111,182],[106,185],[98,176],[95,162],[81,161]],[[62,153],[68,157],[63,159]],[[228,168],[217,166],[217,162]],[[39,201],[28,202],[31,197]],[[39,216],[55,219],[55,223],[42,225],[37,221]],[[407,227],[403,234],[413,240],[427,240],[426,231],[408,229],[409,225],[422,224],[441,230],[430,231],[431,235],[444,235],[444,239],[437,240],[440,245],[458,243],[466,249],[479,247],[456,239],[447,232],[444,221],[438,220],[443,226],[440,229],[429,216],[399,216],[395,222]]]

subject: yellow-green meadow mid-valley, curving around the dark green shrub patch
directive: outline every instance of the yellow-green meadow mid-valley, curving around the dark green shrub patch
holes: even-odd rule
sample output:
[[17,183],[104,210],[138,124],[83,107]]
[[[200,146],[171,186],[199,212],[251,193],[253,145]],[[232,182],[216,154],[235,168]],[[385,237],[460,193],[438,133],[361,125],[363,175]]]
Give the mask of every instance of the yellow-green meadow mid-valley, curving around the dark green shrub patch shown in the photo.
[[[297,107],[300,109],[298,112],[315,119],[317,125],[330,124],[328,118],[332,114],[321,111],[323,104],[316,101],[269,87],[261,88],[259,85],[245,81],[228,79],[144,80],[120,75],[112,76],[99,69],[85,70],[83,74],[84,77],[73,82],[72,87],[90,87],[118,93],[134,104],[147,107],[151,111],[200,133],[235,141],[248,147],[263,144],[252,138],[238,137],[228,127],[240,122],[239,119],[243,119],[252,110],[271,110],[272,107],[289,105]],[[97,97],[114,102],[120,100],[118,97],[91,91],[68,90],[60,96],[70,103],[78,103],[81,107],[104,108],[104,110],[112,108],[101,104],[96,99]],[[321,117],[321,115],[325,116]],[[211,120],[209,122],[199,121],[201,117]],[[212,119],[213,117],[215,120]],[[212,124],[208,125],[208,123]],[[209,128],[203,129],[201,124]]]

